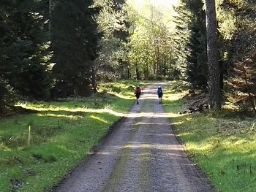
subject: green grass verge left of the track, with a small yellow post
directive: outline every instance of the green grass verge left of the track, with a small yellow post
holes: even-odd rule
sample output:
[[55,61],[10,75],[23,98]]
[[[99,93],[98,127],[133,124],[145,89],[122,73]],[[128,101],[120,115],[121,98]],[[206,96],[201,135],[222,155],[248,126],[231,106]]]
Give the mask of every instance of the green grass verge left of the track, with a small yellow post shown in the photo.
[[1,192],[47,191],[58,183],[134,104],[137,84],[104,83],[89,98],[21,103],[32,112],[1,118]]

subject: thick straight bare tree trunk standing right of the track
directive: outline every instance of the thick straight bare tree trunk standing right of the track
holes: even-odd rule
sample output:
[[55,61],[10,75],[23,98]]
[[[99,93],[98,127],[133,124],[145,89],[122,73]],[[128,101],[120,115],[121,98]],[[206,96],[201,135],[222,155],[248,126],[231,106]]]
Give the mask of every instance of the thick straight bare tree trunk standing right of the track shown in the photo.
[[206,34],[208,55],[209,107],[221,110],[221,92],[219,88],[219,54],[217,46],[217,17],[215,0],[206,0]]

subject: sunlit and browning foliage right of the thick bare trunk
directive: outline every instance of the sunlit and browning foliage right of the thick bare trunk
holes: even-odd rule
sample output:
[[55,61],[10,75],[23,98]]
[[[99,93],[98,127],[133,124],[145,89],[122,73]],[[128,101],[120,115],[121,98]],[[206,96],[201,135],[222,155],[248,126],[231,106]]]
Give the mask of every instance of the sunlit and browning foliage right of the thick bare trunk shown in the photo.
[[[250,93],[252,97],[256,93],[255,2],[244,0],[219,0],[218,2],[222,69],[227,74],[225,88],[232,91],[232,97],[245,101]],[[248,109],[251,110],[252,105]]]

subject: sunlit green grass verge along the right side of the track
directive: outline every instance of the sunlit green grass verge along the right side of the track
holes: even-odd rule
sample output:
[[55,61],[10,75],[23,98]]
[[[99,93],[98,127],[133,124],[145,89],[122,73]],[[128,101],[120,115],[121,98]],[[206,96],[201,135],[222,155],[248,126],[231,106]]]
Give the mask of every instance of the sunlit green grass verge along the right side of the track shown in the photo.
[[178,115],[187,101],[173,90],[165,91],[164,104],[176,136],[217,191],[255,191],[256,119],[232,110]]

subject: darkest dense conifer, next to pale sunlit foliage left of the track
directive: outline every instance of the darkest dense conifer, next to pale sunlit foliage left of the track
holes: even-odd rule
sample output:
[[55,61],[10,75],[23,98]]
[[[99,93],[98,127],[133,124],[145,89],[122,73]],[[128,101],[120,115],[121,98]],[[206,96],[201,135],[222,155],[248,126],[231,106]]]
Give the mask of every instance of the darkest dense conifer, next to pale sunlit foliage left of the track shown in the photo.
[[99,50],[97,9],[93,1],[55,1],[52,10],[51,38],[53,74],[56,76],[54,96],[88,96],[91,66]]

